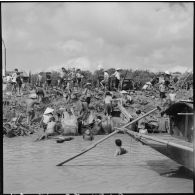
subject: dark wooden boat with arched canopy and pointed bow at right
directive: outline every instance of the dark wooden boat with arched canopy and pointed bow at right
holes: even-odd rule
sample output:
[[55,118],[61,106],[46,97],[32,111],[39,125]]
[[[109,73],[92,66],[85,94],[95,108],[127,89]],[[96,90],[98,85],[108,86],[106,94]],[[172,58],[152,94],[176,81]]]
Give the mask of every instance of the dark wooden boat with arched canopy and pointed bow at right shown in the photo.
[[140,134],[129,129],[127,133],[170,159],[194,171],[194,116],[193,104],[177,102],[165,110],[170,117],[170,132]]

